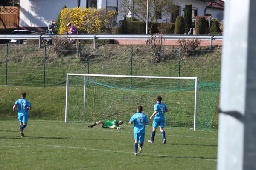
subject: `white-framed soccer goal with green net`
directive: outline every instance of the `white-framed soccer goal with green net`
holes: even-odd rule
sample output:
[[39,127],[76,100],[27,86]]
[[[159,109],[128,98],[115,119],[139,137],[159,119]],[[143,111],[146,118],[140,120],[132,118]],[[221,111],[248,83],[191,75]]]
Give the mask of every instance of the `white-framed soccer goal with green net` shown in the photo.
[[211,128],[218,88],[219,83],[198,82],[197,77],[68,73],[65,122],[128,123],[137,105],[149,118],[160,95],[169,110],[167,127]]

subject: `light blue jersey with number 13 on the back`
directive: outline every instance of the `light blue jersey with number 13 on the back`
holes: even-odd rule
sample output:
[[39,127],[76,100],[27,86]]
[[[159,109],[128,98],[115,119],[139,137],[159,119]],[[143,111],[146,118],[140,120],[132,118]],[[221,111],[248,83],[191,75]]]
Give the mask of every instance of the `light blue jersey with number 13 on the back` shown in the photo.
[[135,113],[131,117],[130,122],[134,122],[134,133],[145,133],[145,125],[149,121],[147,115],[143,113]]

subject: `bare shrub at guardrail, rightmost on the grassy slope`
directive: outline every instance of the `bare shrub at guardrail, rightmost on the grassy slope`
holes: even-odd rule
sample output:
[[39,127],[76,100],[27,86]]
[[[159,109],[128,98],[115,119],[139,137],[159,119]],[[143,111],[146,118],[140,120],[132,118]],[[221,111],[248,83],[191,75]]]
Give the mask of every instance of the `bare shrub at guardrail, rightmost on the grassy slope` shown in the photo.
[[198,38],[180,38],[177,41],[182,49],[181,55],[183,56],[183,59],[193,54],[193,50],[200,45],[200,40],[198,40]]

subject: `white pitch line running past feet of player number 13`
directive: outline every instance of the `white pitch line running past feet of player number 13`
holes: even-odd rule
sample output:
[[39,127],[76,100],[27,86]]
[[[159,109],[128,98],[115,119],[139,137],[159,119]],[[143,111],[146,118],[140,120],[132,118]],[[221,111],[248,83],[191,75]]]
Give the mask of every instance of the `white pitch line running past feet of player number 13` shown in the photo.
[[[133,152],[124,152],[124,151],[113,151],[113,150],[103,150],[103,149],[93,149],[93,148],[87,148],[87,147],[70,147],[70,146],[58,146],[58,145],[45,145],[45,144],[30,144],[30,143],[15,143],[15,142],[0,142],[0,143],[8,143],[8,144],[29,144],[29,145],[35,145],[36,147],[43,147],[43,148],[69,148],[69,149],[84,149],[84,150],[97,150],[97,151],[104,151],[104,152],[116,152],[116,153],[129,153],[133,154]],[[0,147],[32,147],[32,146],[3,146]],[[149,156],[163,156],[163,157],[170,157],[170,158],[183,158],[183,159],[201,159],[201,160],[207,160],[207,161],[217,161],[217,159],[208,159],[208,158],[197,158],[197,157],[183,157],[183,156],[172,156],[172,155],[157,155],[157,154],[151,154],[151,153],[143,153],[141,155],[149,155]]]

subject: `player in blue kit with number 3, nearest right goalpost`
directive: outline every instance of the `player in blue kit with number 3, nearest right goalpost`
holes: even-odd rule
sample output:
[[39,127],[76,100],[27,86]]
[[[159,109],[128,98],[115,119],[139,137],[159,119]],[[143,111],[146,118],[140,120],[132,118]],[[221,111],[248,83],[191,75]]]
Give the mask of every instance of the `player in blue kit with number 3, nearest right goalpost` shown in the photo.
[[152,127],[152,133],[151,133],[151,140],[148,140],[149,143],[154,143],[154,136],[156,135],[157,127],[160,127],[160,131],[163,136],[163,144],[166,144],[166,137],[165,137],[165,131],[163,130],[165,120],[164,120],[164,113],[168,112],[168,109],[165,104],[161,103],[162,97],[157,96],[157,104],[154,105],[154,113],[152,116],[150,116],[150,119],[155,116]]

